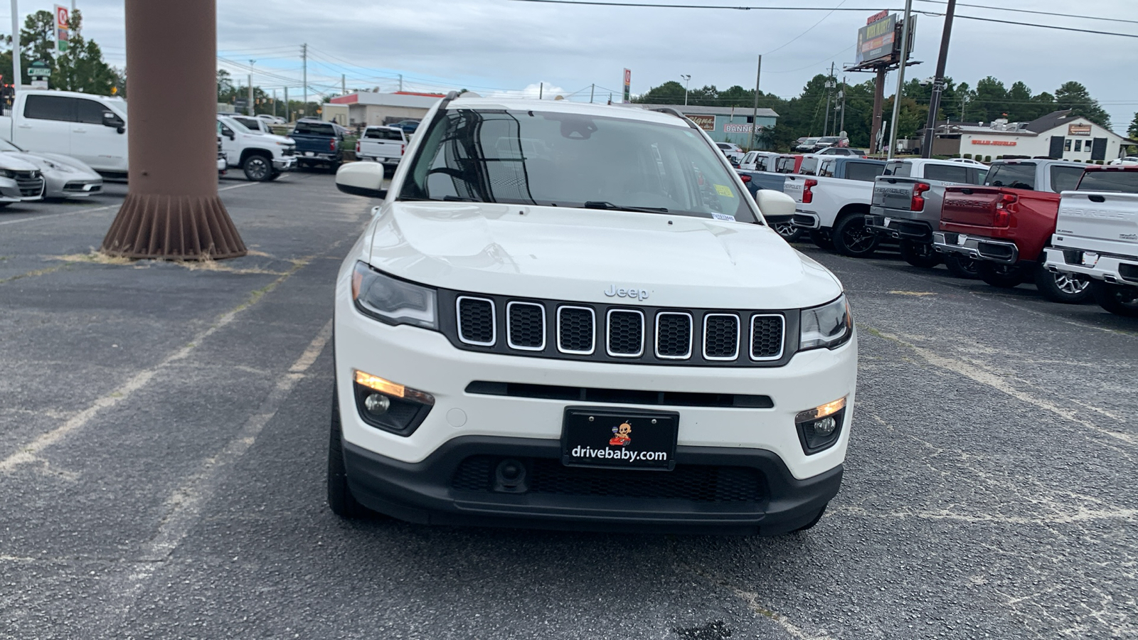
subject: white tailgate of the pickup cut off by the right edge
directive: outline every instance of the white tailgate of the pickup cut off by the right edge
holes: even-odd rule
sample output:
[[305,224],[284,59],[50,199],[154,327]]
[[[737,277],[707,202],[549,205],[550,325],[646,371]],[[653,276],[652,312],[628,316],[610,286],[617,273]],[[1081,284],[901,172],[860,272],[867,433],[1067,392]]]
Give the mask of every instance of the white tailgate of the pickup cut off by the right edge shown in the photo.
[[1115,243],[1138,241],[1138,194],[1064,191],[1055,232]]

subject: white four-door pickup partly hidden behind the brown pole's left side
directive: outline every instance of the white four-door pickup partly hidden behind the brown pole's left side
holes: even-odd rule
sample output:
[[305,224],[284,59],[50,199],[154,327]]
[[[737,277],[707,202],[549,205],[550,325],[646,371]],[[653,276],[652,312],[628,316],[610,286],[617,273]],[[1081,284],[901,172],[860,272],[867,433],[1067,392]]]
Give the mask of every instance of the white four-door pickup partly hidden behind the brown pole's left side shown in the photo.
[[126,174],[126,101],[76,91],[24,89],[0,137],[28,151],[63,154],[105,175]]

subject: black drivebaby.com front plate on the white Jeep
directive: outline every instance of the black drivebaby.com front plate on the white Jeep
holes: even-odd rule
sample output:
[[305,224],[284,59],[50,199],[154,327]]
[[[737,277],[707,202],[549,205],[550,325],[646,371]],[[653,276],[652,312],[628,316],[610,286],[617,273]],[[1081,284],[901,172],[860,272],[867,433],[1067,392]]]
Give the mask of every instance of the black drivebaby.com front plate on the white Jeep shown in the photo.
[[561,461],[572,467],[671,469],[679,413],[567,407]]

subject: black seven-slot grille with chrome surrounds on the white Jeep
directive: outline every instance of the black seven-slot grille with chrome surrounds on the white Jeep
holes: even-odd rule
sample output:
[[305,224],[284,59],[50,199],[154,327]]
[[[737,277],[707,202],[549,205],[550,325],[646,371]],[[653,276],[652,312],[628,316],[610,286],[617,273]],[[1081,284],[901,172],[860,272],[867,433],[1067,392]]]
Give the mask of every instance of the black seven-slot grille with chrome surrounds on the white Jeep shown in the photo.
[[463,350],[637,364],[781,367],[797,310],[708,310],[519,300],[438,289],[439,325]]

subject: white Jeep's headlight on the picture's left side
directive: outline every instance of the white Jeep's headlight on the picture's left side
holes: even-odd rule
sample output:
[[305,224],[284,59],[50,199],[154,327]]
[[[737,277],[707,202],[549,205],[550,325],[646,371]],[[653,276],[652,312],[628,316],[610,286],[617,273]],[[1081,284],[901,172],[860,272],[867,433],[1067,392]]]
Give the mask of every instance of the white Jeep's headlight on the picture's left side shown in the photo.
[[352,273],[352,300],[356,309],[388,325],[438,329],[435,289],[396,280],[363,262],[356,262]]

